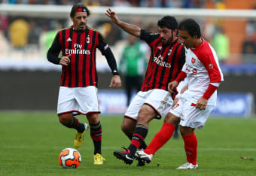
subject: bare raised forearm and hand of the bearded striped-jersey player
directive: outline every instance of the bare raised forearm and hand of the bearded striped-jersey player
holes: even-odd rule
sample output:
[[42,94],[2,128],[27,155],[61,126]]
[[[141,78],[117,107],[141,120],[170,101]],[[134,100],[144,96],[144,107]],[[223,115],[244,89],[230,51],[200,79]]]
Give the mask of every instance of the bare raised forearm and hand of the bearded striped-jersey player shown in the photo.
[[117,26],[120,26],[120,28],[123,29],[125,32],[129,33],[130,35],[140,37],[141,29],[138,26],[131,25],[119,20],[117,14],[115,14],[115,12],[112,11],[110,8],[108,8],[105,15],[110,17],[111,21],[117,24]]

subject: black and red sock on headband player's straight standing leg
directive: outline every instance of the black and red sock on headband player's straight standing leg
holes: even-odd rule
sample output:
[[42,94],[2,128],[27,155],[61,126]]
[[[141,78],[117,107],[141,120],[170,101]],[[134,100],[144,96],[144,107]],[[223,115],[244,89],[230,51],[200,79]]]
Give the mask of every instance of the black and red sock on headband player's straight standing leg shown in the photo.
[[102,153],[102,126],[99,123],[90,124],[90,137],[93,139],[94,154]]

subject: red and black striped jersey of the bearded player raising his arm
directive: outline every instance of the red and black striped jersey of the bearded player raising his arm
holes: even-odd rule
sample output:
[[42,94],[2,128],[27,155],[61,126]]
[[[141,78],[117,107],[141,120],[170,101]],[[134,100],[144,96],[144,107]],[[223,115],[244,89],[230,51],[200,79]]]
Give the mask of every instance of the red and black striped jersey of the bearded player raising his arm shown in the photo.
[[142,84],[142,91],[161,89],[168,91],[168,83],[178,76],[185,62],[185,49],[178,39],[164,45],[159,34],[141,30],[140,38],[151,47],[151,56]]

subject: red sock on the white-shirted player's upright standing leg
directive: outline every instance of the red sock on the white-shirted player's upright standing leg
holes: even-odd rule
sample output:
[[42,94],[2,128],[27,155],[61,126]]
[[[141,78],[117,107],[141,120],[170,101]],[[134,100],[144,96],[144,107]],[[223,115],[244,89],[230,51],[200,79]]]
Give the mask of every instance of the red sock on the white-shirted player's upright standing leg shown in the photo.
[[197,165],[197,136],[195,133],[182,135],[184,148],[187,155],[187,162]]

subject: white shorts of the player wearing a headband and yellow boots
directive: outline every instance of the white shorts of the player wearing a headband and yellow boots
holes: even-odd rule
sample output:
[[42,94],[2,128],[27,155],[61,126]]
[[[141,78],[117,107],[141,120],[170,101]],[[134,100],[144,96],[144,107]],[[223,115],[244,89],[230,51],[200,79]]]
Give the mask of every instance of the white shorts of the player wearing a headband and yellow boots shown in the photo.
[[59,87],[57,114],[100,113],[96,86]]

